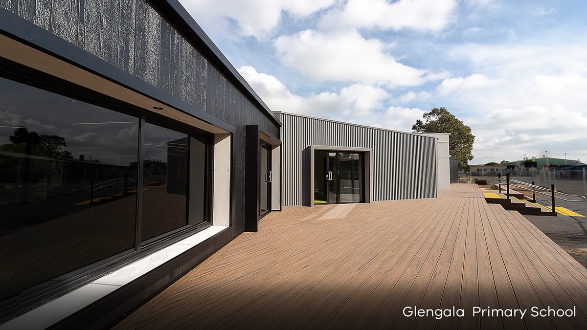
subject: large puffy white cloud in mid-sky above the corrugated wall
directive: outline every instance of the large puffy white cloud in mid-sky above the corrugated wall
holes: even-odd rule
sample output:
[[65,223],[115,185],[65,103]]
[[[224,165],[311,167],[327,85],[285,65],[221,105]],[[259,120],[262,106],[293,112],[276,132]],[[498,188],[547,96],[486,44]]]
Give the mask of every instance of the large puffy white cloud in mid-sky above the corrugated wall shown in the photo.
[[306,30],[279,36],[274,42],[279,59],[318,81],[418,86],[438,76],[397,62],[386,52],[389,45],[365,39],[356,30],[316,32]]

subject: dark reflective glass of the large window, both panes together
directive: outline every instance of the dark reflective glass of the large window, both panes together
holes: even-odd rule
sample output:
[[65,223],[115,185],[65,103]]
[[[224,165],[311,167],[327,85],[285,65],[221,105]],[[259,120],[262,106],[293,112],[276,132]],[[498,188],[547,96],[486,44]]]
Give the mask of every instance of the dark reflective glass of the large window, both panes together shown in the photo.
[[163,126],[0,77],[0,307],[209,220],[207,138]]

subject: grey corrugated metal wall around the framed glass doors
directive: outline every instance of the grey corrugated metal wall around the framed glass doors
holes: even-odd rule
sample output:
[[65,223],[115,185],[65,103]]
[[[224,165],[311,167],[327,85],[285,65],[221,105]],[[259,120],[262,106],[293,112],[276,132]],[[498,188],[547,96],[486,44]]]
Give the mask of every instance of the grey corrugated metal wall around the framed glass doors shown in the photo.
[[[308,146],[372,149],[373,201],[437,197],[436,139],[330,120],[279,113],[282,127],[283,206],[308,194]],[[333,148],[336,149],[336,148]]]

